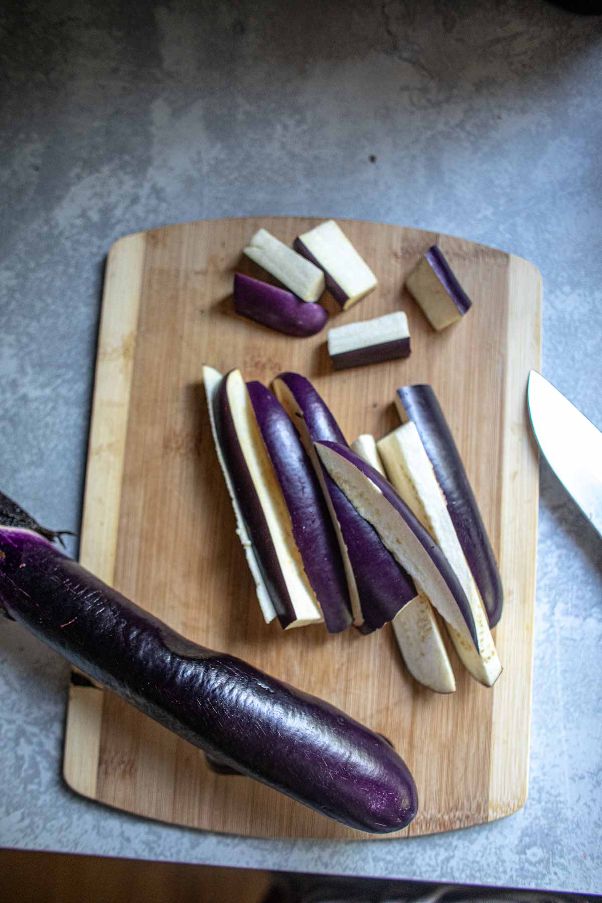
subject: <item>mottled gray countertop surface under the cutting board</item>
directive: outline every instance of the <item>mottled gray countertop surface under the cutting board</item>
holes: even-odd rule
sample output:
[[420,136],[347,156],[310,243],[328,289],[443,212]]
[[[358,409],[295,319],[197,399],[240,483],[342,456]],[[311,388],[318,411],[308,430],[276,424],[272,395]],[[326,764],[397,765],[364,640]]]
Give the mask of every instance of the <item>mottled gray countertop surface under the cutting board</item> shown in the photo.
[[[0,10],[2,489],[78,529],[104,257],[190,219],[375,219],[533,260],[543,372],[602,426],[600,18],[534,0],[95,6]],[[265,842],[88,803],[60,780],[69,669],[1,625],[0,845],[599,891],[601,552],[542,467],[517,815],[412,841]]]

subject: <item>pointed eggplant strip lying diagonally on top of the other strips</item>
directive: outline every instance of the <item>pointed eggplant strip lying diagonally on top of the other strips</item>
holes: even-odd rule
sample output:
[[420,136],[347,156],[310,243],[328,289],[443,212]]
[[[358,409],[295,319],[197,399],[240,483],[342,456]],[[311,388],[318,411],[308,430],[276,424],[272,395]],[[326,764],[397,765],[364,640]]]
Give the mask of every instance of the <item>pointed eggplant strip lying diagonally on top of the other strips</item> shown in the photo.
[[393,486],[356,452],[338,442],[316,442],[320,460],[338,488],[380,536],[395,560],[468,646],[478,650],[466,593],[440,548]]

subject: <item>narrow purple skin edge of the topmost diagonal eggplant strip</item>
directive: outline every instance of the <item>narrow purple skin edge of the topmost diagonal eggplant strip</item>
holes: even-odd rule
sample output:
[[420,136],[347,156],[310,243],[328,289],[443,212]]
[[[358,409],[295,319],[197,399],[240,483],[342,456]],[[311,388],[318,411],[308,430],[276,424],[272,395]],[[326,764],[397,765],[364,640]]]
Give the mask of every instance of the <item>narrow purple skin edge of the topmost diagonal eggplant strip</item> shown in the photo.
[[378,470],[375,470],[374,467],[364,461],[357,452],[354,452],[353,449],[350,449],[347,445],[341,445],[338,442],[320,442],[319,444],[326,445],[332,449],[333,452],[337,452],[341,458],[345,458],[368,479],[372,480],[376,488],[380,489],[383,493],[384,498],[386,498],[389,504],[394,507],[395,511],[403,517],[405,523],[410,526],[412,533],[431,557],[432,563],[440,572],[441,577],[449,587],[449,591],[457,601],[458,609],[466,623],[472,641],[478,650],[477,628],[468,604],[466,593],[462,589],[455,571],[452,569],[445,555],[441,552],[439,545],[435,543],[431,535],[421,525],[421,522],[413,515],[410,508],[403,501],[403,498],[400,498],[388,479],[384,479]]

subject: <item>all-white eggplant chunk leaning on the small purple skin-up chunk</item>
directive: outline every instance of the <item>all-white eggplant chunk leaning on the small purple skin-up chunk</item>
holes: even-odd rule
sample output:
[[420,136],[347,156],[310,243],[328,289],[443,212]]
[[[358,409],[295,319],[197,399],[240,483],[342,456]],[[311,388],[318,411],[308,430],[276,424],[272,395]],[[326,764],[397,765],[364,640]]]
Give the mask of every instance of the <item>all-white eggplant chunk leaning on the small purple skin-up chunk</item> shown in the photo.
[[318,301],[325,288],[324,274],[291,247],[260,228],[243,248],[247,257],[264,267],[282,285],[286,285],[301,301]]

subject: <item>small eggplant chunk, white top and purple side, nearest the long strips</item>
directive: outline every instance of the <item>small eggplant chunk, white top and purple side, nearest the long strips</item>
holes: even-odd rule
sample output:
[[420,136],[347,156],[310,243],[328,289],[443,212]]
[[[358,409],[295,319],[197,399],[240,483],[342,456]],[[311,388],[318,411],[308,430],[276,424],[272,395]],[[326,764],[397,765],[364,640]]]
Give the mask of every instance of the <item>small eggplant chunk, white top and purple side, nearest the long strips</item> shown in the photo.
[[328,333],[329,355],[335,370],[379,364],[410,355],[410,330],[403,311],[374,320],[335,326]]

